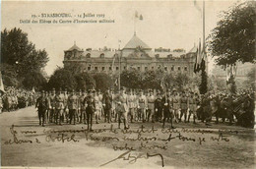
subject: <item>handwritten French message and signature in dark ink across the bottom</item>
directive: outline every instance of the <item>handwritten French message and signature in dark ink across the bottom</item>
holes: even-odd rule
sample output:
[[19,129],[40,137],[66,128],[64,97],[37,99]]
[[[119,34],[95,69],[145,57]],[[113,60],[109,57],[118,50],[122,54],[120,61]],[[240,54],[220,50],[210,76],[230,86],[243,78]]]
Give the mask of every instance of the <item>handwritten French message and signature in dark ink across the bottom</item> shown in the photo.
[[[120,155],[107,161],[100,166],[107,165],[116,160],[125,160],[133,164],[139,159],[156,158],[164,166],[164,151],[167,151],[173,144],[194,143],[203,146],[206,142],[229,143],[231,135],[238,135],[238,131],[233,130],[213,130],[213,129],[160,129],[155,126],[145,127],[141,125],[136,129],[120,130],[113,125],[88,131],[84,127],[80,129],[65,130],[43,130],[42,134],[32,130],[20,130],[18,132],[14,125],[10,127],[12,138],[4,143],[24,144],[24,143],[92,143],[98,142],[114,151],[120,151]],[[37,137],[42,136],[42,137]],[[29,138],[29,139],[28,139]],[[101,143],[100,143],[101,142]],[[172,144],[173,143],[173,144]],[[125,151],[125,152],[123,152]]]

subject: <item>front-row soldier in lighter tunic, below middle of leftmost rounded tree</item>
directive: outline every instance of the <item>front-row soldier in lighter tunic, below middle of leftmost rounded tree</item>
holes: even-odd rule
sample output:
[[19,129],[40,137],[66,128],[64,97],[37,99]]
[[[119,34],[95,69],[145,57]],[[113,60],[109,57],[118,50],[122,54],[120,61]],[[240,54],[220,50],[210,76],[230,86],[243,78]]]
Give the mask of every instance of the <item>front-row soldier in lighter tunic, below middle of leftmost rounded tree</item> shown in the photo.
[[58,125],[61,125],[61,117],[63,116],[63,110],[64,110],[64,97],[61,94],[61,90],[57,92],[54,100],[55,100],[55,111],[56,111],[55,123]]

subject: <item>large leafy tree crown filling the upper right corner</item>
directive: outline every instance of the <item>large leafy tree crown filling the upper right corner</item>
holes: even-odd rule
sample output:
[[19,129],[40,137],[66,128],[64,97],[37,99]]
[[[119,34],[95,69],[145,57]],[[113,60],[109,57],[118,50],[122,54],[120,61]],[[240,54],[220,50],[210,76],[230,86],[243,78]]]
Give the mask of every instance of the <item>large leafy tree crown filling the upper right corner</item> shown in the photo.
[[256,3],[245,2],[224,12],[210,35],[209,49],[217,65],[234,65],[237,61],[255,63]]

